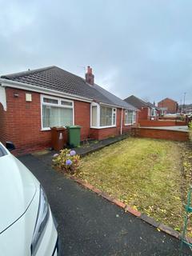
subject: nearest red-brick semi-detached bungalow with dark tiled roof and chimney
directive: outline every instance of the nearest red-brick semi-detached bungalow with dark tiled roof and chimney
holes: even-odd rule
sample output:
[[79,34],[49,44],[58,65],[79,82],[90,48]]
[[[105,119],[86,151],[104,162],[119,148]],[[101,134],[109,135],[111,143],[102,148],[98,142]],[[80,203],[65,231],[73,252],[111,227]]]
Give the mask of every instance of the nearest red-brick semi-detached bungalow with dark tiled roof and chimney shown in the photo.
[[82,141],[126,133],[137,111],[95,84],[90,66],[85,79],[57,66],[0,78],[0,141],[20,149],[50,146],[53,126],[81,126]]

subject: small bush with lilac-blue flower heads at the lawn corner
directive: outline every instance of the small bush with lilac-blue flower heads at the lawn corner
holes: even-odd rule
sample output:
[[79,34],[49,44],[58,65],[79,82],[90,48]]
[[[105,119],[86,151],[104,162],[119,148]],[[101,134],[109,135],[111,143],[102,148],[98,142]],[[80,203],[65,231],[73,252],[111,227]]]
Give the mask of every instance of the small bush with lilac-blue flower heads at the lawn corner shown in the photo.
[[80,157],[74,150],[60,150],[60,154],[54,154],[53,164],[59,170],[74,174],[78,170]]

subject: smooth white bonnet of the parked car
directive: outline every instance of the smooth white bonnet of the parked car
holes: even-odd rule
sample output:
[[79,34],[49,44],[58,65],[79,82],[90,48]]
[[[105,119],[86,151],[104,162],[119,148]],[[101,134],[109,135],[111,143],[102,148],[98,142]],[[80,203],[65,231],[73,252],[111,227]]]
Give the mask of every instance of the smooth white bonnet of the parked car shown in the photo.
[[25,214],[38,186],[30,170],[12,154],[0,158],[0,234]]

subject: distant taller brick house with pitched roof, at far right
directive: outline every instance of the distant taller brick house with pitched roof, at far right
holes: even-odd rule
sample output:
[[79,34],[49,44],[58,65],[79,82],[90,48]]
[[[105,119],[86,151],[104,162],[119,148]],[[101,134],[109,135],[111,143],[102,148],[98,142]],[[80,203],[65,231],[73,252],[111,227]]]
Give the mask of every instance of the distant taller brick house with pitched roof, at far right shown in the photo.
[[171,98],[164,98],[161,102],[158,102],[158,108],[161,111],[161,115],[176,114],[178,112],[178,102]]

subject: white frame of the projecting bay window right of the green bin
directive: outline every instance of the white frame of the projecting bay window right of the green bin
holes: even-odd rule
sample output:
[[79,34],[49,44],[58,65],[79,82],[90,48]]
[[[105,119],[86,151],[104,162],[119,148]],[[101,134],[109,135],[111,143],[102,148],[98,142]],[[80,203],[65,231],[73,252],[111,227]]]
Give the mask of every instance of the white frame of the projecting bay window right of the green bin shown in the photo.
[[[97,106],[97,126],[92,126],[92,106]],[[100,114],[101,114],[101,106],[109,107],[112,109],[112,119],[111,122],[113,123],[113,115],[115,113],[115,124],[111,126],[100,126]],[[94,129],[105,129],[117,126],[117,108],[114,106],[108,106],[104,104],[98,104],[97,102],[90,103],[90,128]]]

